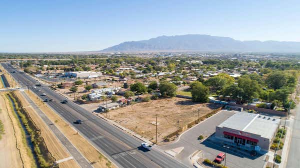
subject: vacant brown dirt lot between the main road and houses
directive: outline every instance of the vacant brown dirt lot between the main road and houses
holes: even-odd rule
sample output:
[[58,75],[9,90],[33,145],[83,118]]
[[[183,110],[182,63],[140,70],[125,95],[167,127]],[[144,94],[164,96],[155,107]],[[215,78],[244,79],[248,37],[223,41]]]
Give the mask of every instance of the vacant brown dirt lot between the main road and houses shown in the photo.
[[[155,115],[157,114],[157,142],[163,137],[209,113],[219,105],[193,103],[189,99],[170,98],[137,103],[110,111],[108,118],[148,139],[155,139]],[[105,116],[105,115],[104,115]]]

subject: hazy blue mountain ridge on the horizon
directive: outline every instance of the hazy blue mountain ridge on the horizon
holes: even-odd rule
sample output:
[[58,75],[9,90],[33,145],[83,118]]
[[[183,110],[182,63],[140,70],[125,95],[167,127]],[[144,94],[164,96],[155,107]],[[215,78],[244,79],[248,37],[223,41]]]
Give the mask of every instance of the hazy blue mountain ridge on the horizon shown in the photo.
[[300,42],[292,41],[239,41],[230,37],[201,34],[159,36],[148,40],[126,41],[100,52],[300,52]]

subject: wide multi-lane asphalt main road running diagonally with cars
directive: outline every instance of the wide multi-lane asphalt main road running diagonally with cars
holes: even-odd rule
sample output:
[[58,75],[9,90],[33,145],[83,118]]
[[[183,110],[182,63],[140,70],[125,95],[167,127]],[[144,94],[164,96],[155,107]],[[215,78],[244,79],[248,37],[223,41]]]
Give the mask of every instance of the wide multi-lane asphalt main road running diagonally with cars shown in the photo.
[[[8,72],[13,71],[6,63],[2,63],[2,66]],[[39,83],[29,75],[19,71],[10,74],[19,81],[22,86]],[[41,90],[39,93],[35,91],[36,89],[29,88],[38,95],[45,93],[46,96],[40,96],[42,99],[53,99],[54,102],[48,102],[48,105],[118,167],[188,168],[188,166],[164,155],[155,149],[155,147],[152,148],[151,151],[145,151],[140,148],[140,140],[127,135],[105,120],[79,107],[77,104],[70,101],[68,101],[67,104],[61,104],[60,102],[65,100],[65,97],[45,87],[43,84],[41,85],[41,87],[38,87]],[[74,124],[73,122],[77,119],[82,120],[83,124]]]

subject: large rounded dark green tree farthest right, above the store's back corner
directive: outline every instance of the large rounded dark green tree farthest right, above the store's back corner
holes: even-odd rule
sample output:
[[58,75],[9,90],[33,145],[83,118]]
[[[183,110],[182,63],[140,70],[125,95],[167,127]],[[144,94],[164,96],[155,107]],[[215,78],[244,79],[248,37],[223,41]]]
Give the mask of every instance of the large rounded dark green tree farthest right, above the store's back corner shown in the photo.
[[286,85],[287,76],[280,71],[272,72],[267,76],[265,82],[270,88],[276,90]]

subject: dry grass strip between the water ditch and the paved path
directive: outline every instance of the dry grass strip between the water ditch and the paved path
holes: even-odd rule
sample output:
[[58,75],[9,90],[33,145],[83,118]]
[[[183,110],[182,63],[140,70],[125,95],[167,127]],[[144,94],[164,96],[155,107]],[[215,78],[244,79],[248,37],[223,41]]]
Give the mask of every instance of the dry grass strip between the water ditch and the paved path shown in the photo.
[[[57,161],[69,157],[69,153],[65,150],[62,144],[51,132],[48,126],[42,121],[38,114],[33,110],[33,108],[29,106],[29,103],[25,100],[25,98],[19,92],[15,92],[15,94],[21,101],[22,106],[28,112],[33,122],[40,129],[41,136],[43,137],[49,152],[55,158],[55,160]],[[79,168],[79,166],[75,161],[69,160],[59,164],[59,168]]]

